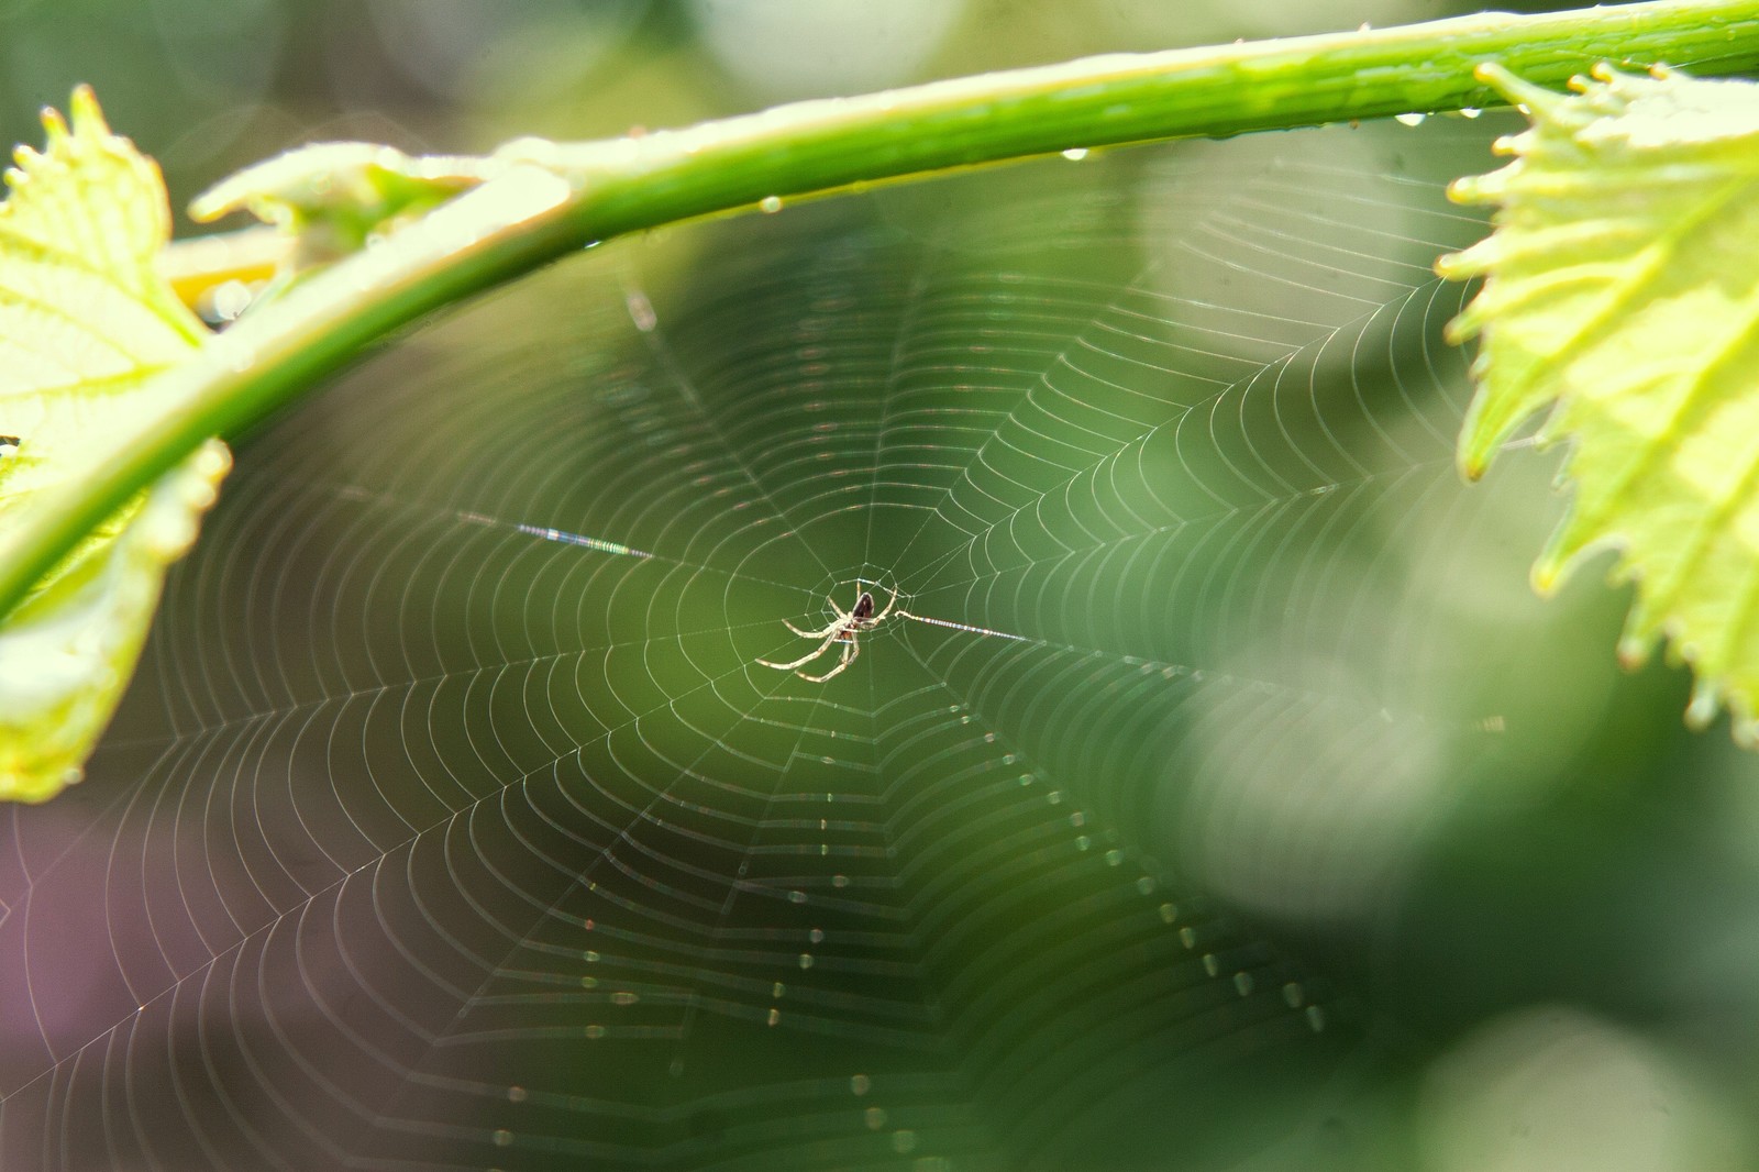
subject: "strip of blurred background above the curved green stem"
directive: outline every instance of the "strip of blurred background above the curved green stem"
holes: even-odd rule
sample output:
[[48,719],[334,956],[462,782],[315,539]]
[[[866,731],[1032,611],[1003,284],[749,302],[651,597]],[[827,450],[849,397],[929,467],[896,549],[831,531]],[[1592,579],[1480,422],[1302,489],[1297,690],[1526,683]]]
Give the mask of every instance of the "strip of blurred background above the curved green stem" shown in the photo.
[[[1504,5],[1514,11],[1569,5]],[[828,93],[1471,11],[1416,0],[4,0],[0,127],[77,83],[125,113],[172,199],[287,146],[480,151],[598,137]]]

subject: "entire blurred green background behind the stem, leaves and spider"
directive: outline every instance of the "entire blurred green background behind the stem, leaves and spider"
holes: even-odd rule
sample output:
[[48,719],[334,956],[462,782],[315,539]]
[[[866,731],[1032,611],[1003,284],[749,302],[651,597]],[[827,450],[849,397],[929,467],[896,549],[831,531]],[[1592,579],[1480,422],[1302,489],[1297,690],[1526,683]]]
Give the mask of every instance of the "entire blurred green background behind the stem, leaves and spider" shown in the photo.
[[[0,0],[0,44],[14,141],[88,81],[181,204],[315,139],[1456,11]],[[1602,563],[1530,597],[1553,454],[1449,463],[1439,187],[1509,125],[621,241],[255,436],[91,780],[7,811],[5,1167],[1759,1167],[1754,762],[1615,667]],[[749,667],[857,581],[1015,639]]]

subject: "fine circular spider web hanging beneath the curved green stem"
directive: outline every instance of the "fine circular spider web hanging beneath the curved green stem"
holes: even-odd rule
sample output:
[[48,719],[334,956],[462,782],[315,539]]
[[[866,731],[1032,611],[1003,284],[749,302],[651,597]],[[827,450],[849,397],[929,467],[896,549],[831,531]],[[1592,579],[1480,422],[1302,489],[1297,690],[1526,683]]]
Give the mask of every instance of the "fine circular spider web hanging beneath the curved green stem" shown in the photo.
[[[1495,727],[1460,663],[1518,655],[1462,646],[1499,493],[1428,273],[1488,139],[623,241],[287,419],[90,780],[4,813],[0,1163],[1300,1142],[1363,1035],[1298,926],[1372,905],[1384,795]],[[756,663],[860,590],[934,621]]]

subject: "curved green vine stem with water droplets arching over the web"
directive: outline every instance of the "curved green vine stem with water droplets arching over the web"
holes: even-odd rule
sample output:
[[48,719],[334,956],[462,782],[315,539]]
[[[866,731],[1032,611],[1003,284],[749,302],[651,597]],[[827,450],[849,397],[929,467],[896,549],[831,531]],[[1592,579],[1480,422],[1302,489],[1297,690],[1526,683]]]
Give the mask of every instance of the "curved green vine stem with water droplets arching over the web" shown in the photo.
[[[1110,55],[783,106],[603,143],[515,143],[496,174],[246,315],[165,378],[165,414],[0,549],[0,618],[81,537],[208,436],[237,435],[401,326],[588,245],[660,223],[1068,148],[1495,104],[1493,60],[1560,86],[1599,60],[1759,69],[1759,0],[1485,14],[1319,37]],[[774,204],[770,204],[774,206]]]

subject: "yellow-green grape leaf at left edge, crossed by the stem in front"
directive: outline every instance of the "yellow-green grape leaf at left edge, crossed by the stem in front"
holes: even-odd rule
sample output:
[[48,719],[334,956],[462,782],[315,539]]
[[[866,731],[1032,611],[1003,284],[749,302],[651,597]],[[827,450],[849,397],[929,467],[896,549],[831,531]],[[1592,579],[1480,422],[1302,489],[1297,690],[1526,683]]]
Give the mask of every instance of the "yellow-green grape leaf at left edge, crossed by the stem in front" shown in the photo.
[[[164,410],[155,375],[208,331],[157,271],[171,238],[158,167],[91,92],[47,148],[19,148],[0,204],[0,556],[33,500],[95,468]],[[229,456],[209,443],[111,517],[0,623],[0,799],[79,778],[139,658],[165,567],[193,540]]]

